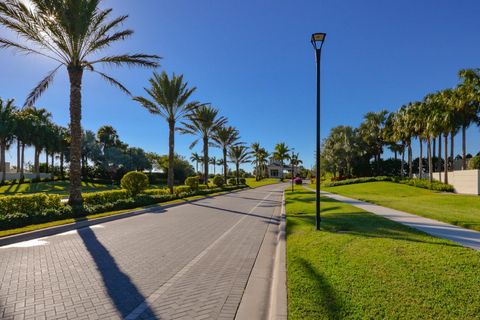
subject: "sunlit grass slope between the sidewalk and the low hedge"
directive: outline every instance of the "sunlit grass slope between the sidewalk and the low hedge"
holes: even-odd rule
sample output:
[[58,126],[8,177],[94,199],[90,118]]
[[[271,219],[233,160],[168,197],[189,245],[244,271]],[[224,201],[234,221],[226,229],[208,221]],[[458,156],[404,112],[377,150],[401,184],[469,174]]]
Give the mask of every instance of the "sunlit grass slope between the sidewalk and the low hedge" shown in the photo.
[[445,194],[392,182],[368,182],[322,190],[480,231],[479,196]]

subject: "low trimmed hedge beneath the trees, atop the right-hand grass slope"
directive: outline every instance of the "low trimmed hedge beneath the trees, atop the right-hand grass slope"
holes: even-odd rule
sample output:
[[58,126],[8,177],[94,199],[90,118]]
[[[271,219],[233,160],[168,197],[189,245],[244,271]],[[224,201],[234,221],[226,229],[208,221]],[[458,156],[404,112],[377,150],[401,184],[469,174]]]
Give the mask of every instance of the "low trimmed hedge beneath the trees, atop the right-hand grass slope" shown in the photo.
[[338,187],[344,186],[349,184],[357,184],[357,183],[366,183],[366,182],[377,182],[377,181],[388,181],[394,183],[401,183],[406,184],[412,187],[441,191],[441,192],[454,192],[455,189],[452,185],[446,184],[440,181],[432,181],[429,182],[426,179],[409,179],[409,178],[399,178],[399,177],[365,177],[365,178],[355,178],[355,179],[347,179],[341,180],[336,182],[329,182],[325,183],[325,187]]

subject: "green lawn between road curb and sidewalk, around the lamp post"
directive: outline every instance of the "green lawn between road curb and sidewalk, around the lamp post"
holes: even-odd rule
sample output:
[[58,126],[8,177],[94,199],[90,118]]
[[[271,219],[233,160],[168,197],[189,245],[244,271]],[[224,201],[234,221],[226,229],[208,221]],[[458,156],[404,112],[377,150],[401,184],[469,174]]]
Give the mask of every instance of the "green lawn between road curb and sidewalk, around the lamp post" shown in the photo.
[[287,191],[289,319],[480,318],[480,253],[328,198],[314,231],[314,197]]

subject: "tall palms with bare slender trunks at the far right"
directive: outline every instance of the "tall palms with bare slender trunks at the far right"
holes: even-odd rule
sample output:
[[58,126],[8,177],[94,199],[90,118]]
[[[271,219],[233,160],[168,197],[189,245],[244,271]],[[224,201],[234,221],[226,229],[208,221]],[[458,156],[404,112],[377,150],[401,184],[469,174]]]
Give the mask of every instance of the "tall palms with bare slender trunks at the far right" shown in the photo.
[[[472,124],[480,125],[480,69],[465,69],[459,72],[461,82],[451,89],[445,89],[425,96],[422,101],[416,101],[402,106],[397,112],[387,117],[385,140],[396,144],[402,154],[408,150],[408,174],[412,170],[412,140],[419,141],[419,176],[423,169],[423,147],[426,143],[428,178],[433,179],[435,170],[433,158],[438,145],[437,169],[442,171],[444,182],[448,183],[448,171],[454,169],[454,139],[461,131],[462,140],[462,170],[467,169],[466,130]],[[450,138],[450,156],[449,156]],[[442,155],[443,140],[443,155]],[[443,161],[440,161],[443,156]],[[402,170],[403,172],[403,160]]]

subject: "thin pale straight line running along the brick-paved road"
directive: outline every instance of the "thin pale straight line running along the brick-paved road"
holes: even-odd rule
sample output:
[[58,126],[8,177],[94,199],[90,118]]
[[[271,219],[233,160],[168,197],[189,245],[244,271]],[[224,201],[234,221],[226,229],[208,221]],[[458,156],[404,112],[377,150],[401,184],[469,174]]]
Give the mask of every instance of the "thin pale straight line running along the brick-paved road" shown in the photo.
[[187,265],[185,265],[180,271],[178,271],[174,276],[172,276],[167,282],[161,285],[154,293],[148,296],[141,304],[139,304],[130,314],[128,314],[124,319],[125,320],[135,320],[137,319],[145,310],[147,310],[158,298],[162,296],[173,284],[180,279],[185,273],[187,273],[200,259],[202,259],[210,250],[212,250],[215,245],[222,241],[236,226],[238,226],[246,217],[250,216],[255,209],[258,208],[265,200],[267,200],[275,191],[271,191],[266,195],[260,202],[258,202],[255,207],[253,207],[248,214],[243,216],[238,220],[232,227],[225,231],[220,237],[218,237],[214,242],[212,242],[206,249],[200,252],[195,258],[193,258]]

